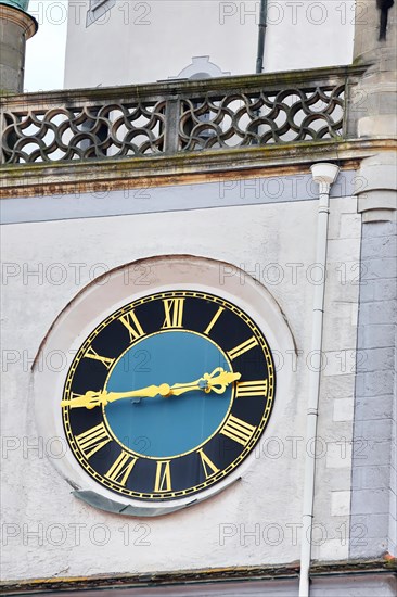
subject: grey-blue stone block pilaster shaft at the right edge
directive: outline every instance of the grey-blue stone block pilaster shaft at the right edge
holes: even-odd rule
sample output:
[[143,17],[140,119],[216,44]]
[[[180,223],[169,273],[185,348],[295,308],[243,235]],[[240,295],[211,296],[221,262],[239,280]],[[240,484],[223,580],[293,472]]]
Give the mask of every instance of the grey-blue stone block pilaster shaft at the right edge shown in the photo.
[[397,225],[362,225],[350,557],[396,555]]

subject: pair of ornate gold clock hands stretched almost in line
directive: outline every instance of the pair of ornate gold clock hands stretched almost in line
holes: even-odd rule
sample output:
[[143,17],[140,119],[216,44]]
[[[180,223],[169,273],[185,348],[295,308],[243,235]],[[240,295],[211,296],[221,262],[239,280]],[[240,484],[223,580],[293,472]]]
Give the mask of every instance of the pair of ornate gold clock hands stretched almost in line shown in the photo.
[[231,373],[225,371],[221,367],[217,367],[212,373],[204,373],[202,378],[191,383],[175,383],[171,386],[168,383],[162,383],[161,385],[148,385],[146,388],[132,390],[131,392],[89,391],[72,401],[62,401],[61,406],[88,408],[91,410],[95,406],[106,406],[108,403],[124,398],[154,398],[158,394],[163,397],[180,396],[193,390],[203,390],[206,393],[214,391],[216,394],[222,394],[230,383],[240,378],[241,373]]

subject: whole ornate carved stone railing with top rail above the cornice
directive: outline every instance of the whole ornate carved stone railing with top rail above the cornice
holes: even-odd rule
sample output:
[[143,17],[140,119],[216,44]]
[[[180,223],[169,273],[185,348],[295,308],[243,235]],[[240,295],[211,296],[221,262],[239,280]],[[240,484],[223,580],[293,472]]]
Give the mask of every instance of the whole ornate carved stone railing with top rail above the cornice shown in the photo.
[[10,96],[0,104],[2,163],[346,139],[357,75],[334,67]]

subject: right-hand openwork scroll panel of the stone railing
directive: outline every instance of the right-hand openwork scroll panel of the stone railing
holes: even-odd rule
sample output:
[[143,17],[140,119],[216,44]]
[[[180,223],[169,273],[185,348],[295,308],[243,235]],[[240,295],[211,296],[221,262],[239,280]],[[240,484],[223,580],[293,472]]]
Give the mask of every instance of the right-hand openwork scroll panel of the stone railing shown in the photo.
[[344,86],[231,93],[182,100],[185,151],[336,138],[343,130]]

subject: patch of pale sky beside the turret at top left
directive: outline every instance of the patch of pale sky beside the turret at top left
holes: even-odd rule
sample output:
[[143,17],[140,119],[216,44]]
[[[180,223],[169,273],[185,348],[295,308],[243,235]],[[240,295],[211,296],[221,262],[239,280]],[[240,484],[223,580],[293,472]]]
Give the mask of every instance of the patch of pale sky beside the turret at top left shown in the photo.
[[62,89],[67,0],[30,0],[28,12],[39,29],[26,43],[25,91]]

